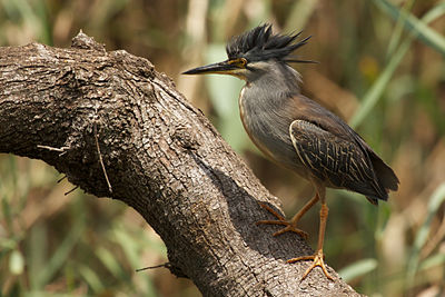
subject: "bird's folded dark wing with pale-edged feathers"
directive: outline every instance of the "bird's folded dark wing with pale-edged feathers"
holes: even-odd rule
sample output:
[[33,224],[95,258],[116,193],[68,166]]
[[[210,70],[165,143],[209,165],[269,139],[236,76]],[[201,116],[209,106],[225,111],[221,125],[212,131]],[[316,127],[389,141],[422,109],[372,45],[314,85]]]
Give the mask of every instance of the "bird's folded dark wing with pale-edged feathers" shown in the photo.
[[327,186],[365,195],[373,204],[386,200],[368,156],[360,146],[307,120],[295,120],[289,135],[300,161]]

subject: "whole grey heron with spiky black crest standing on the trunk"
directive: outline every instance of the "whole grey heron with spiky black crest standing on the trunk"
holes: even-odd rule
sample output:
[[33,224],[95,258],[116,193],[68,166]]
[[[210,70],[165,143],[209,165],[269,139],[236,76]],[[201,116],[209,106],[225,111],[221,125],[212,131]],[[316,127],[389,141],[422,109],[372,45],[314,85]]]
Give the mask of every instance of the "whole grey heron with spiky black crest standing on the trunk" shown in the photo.
[[315,254],[287,263],[312,260],[301,280],[315,267],[320,267],[324,275],[334,280],[326,269],[323,251],[328,217],[326,188],[362,194],[377,206],[378,200],[388,199],[390,190],[398,189],[399,180],[344,120],[301,93],[301,76],[290,65],[315,61],[291,55],[310,38],[299,39],[300,34],[274,33],[270,23],[260,24],[229,40],[227,60],[197,67],[182,75],[230,75],[245,80],[238,106],[249,138],[264,155],[315,188],[315,196],[290,220],[260,202],[276,219],[260,220],[257,225],[279,225],[283,229],[274,236],[290,231],[306,239],[307,234],[297,227],[298,221],[319,201]]

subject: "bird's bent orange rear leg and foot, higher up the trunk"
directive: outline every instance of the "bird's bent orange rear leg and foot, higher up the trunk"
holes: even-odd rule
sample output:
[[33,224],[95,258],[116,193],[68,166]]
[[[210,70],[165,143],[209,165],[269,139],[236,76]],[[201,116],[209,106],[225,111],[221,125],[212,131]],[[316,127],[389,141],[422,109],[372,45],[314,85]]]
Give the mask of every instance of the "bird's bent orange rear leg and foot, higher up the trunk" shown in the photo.
[[285,228],[276,231],[274,236],[278,236],[285,232],[296,232],[303,238],[307,238],[307,232],[300,230],[297,228],[297,222],[299,219],[309,210],[317,201],[319,200],[319,195],[318,192],[314,196],[313,199],[310,199],[289,221],[287,221],[281,215],[276,212],[274,209],[271,209],[269,206],[265,204],[259,204],[264,209],[273,214],[277,220],[260,220],[257,221],[257,225],[280,225],[285,226]]

